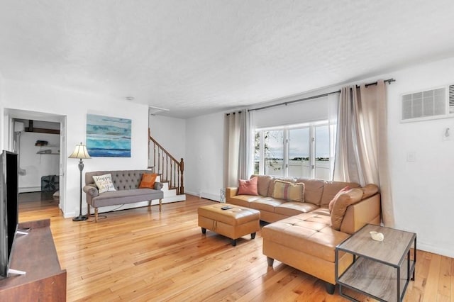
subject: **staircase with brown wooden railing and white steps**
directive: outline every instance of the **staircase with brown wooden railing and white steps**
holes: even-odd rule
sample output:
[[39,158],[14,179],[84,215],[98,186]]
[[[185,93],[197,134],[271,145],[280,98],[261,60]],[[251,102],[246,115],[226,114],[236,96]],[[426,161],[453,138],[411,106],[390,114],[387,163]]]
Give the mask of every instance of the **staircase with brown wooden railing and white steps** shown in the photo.
[[176,160],[150,135],[148,129],[148,164],[153,173],[160,175],[160,182],[164,184],[162,203],[185,201],[183,172],[184,161]]

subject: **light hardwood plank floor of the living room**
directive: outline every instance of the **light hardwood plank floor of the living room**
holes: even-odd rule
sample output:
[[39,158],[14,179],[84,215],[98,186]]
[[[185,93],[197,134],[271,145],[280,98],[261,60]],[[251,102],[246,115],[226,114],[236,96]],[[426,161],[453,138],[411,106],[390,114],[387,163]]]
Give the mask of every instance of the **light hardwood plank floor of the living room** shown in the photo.
[[[323,282],[292,267],[267,267],[260,232],[236,247],[209,230],[202,235],[197,208],[210,203],[187,196],[162,212],[116,211],[94,223],[63,218],[55,202],[28,201],[19,220],[50,218],[67,269],[67,301],[346,301],[337,288],[328,295]],[[453,301],[453,259],[421,251],[417,257],[404,301]]]

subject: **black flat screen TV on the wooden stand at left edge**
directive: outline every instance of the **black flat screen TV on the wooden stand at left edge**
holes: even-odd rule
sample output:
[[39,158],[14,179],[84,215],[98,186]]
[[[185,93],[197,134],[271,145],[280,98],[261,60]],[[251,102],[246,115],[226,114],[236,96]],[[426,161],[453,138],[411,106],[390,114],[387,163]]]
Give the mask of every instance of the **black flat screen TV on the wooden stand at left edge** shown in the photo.
[[18,227],[18,155],[0,154],[0,276],[7,277]]

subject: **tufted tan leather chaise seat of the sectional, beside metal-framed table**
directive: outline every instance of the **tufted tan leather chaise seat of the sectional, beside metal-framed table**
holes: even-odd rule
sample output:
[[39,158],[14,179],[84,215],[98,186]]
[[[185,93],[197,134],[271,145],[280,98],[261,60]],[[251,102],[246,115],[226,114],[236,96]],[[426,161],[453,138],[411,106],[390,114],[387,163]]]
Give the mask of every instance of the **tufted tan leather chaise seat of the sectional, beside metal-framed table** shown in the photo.
[[349,234],[333,230],[330,216],[303,213],[270,223],[262,228],[263,240],[299,250],[308,255],[334,262],[336,245]]

